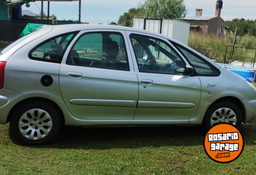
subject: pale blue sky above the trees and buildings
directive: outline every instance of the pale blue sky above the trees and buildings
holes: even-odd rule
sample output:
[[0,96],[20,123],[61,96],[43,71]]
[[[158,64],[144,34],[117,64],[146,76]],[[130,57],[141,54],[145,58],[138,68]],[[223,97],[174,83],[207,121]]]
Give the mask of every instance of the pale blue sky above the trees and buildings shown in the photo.
[[[120,15],[130,8],[137,7],[144,0],[82,0],[82,22],[108,23],[117,22]],[[41,8],[41,2],[35,2]],[[196,8],[202,8],[203,16],[214,16],[216,0],[185,0],[187,15],[195,15]],[[25,6],[23,10],[40,13],[33,2],[30,8]],[[47,2],[44,3],[44,12],[47,14]],[[57,16],[59,20],[78,19],[78,1],[51,2],[50,14]],[[221,17],[224,20],[232,18],[256,19],[256,0],[223,0]]]

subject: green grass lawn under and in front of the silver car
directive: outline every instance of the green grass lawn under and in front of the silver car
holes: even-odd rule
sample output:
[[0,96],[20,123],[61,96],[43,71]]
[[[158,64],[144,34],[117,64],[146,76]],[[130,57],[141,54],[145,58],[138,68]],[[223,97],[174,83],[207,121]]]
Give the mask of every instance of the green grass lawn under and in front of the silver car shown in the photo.
[[40,147],[15,145],[8,128],[0,125],[0,175],[256,174],[256,119],[242,126],[244,152],[230,164],[207,157],[199,126],[65,127],[56,143]]

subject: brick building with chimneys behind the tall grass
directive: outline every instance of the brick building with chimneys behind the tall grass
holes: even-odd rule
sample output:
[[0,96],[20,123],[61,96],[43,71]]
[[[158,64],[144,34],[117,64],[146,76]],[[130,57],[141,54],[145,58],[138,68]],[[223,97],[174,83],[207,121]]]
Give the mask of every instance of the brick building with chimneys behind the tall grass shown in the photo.
[[191,30],[223,37],[225,21],[220,17],[222,6],[222,0],[217,0],[215,16],[202,16],[202,9],[196,9],[196,16],[186,16],[183,20],[191,23]]

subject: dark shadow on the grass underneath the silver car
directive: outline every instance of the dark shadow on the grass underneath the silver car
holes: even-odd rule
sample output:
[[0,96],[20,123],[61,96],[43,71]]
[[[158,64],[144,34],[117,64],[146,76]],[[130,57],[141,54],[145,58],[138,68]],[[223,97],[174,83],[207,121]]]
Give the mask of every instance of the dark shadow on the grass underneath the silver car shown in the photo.
[[[206,130],[201,126],[80,128],[64,127],[55,143],[44,148],[112,149],[200,146]],[[245,145],[256,144],[256,120],[241,128]]]

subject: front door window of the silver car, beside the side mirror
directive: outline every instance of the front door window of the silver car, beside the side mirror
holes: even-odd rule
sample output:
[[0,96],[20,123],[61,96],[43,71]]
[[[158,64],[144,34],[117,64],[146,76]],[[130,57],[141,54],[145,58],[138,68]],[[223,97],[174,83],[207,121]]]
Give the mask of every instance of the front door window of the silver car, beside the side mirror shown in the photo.
[[130,39],[140,72],[185,73],[185,62],[166,42],[138,34],[131,34]]

